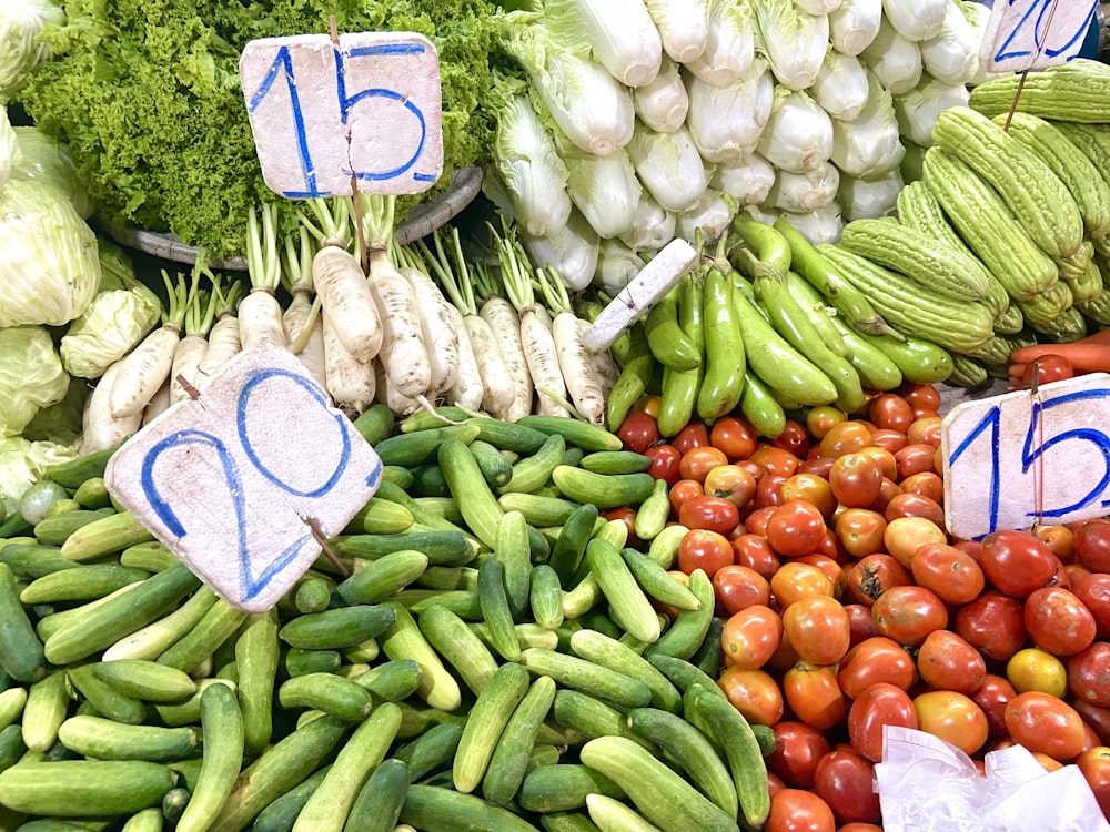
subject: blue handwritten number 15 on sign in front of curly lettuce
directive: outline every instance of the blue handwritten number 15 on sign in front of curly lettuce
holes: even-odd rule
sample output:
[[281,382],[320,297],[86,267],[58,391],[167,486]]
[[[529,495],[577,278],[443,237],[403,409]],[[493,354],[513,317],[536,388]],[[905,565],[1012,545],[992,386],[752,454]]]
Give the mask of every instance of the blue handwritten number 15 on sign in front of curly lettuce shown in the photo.
[[[416,122],[420,124],[420,141],[416,143],[415,152],[407,161],[389,171],[347,171],[347,174],[354,175],[356,179],[364,181],[384,181],[396,179],[401,174],[407,172],[414,164],[416,164],[416,161],[424,152],[424,144],[427,139],[427,125],[425,124],[423,111],[415,103],[395,90],[375,87],[366,90],[359,90],[354,94],[349,95],[346,91],[346,61],[351,58],[361,58],[366,55],[422,54],[423,52],[424,45],[421,43],[384,43],[359,47],[347,51],[346,53],[337,49],[334,50],[335,85],[339,93],[340,115],[344,124],[347,123],[347,120],[351,116],[351,108],[360,101],[370,98],[380,98],[385,99],[386,101],[398,102],[402,110],[407,112],[410,116],[415,118]],[[254,91],[254,94],[251,95],[250,101],[248,101],[246,110],[250,114],[254,114],[259,106],[262,105],[266,95],[270,93],[270,90],[273,89],[279,75],[284,75],[285,78],[285,88],[289,91],[290,106],[293,110],[293,132],[296,135],[296,153],[301,163],[301,171],[304,173],[305,182],[304,191],[283,191],[282,194],[291,199],[331,196],[332,193],[330,191],[321,191],[316,184],[315,164],[313,163],[312,155],[309,152],[309,136],[304,124],[304,112],[301,109],[301,99],[296,89],[296,77],[293,72],[293,59],[290,54],[289,47],[281,47],[278,50],[278,54],[274,55],[274,60],[270,64],[269,70],[266,70],[266,74],[262,79],[262,83],[259,84],[259,89]],[[418,171],[413,172],[412,176],[414,180],[420,182],[428,182],[435,179],[433,175],[421,173]]]

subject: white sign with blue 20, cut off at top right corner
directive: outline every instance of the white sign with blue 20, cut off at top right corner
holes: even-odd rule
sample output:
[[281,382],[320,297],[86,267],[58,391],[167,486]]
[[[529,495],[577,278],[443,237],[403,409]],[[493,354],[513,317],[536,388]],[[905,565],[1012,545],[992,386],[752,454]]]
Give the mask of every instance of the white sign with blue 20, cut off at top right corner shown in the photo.
[[1066,63],[1079,54],[1098,0],[995,0],[979,58],[991,72]]

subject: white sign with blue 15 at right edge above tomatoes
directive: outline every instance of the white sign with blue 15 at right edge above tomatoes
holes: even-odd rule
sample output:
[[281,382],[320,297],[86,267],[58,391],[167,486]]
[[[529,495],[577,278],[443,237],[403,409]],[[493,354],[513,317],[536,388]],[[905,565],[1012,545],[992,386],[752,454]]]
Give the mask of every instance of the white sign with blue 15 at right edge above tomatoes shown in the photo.
[[1108,514],[1110,375],[957,405],[941,423],[941,453],[957,537]]

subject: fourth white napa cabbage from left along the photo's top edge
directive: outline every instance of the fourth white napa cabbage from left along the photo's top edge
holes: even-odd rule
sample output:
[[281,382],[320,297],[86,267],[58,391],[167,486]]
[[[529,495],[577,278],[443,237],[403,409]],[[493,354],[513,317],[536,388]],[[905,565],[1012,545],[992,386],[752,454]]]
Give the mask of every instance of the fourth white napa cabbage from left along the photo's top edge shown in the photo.
[[828,17],[807,14],[794,0],[753,0],[753,7],[775,78],[791,90],[810,87],[828,51]]

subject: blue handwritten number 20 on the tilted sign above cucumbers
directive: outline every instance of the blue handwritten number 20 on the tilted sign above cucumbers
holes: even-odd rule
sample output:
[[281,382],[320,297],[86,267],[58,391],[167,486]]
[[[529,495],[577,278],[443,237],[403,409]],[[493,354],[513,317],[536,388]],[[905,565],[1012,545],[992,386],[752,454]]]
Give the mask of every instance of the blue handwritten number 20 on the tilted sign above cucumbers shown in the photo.
[[[311,379],[304,376],[296,375],[295,373],[290,373],[282,369],[256,369],[246,376],[242,389],[239,395],[239,403],[236,408],[236,427],[238,427],[238,438],[242,446],[243,453],[250,460],[251,465],[255,470],[259,471],[268,481],[273,483],[279,488],[293,494],[297,497],[316,498],[323,497],[331,493],[331,490],[339,484],[340,479],[343,477],[344,471],[347,467],[347,461],[351,458],[351,435],[349,433],[345,417],[329,414],[336,419],[340,426],[340,433],[343,437],[343,447],[340,454],[340,459],[335,466],[335,469],[329,475],[324,484],[317,488],[304,491],[294,488],[287,483],[282,481],[276,477],[273,471],[263,465],[262,460],[258,457],[253,444],[251,443],[250,436],[246,430],[246,409],[250,403],[251,393],[254,388],[265,381],[271,379],[287,379],[296,384],[306,390],[312,398],[325,409],[327,408],[327,400],[320,389],[319,385],[313,383]],[[158,487],[158,483],[154,479],[154,466],[158,463],[159,457],[172,449],[180,449],[183,447],[199,445],[202,447],[208,447],[214,451],[216,459],[220,461],[221,470],[223,473],[224,483],[228,486],[228,493],[231,496],[231,503],[234,508],[235,514],[235,534],[236,534],[236,547],[239,555],[239,568],[240,568],[240,580],[243,586],[243,599],[250,600],[259,595],[263,589],[265,589],[270,582],[279,575],[281,571],[296,560],[301,550],[304,546],[312,541],[312,535],[305,532],[301,538],[297,538],[294,542],[290,544],[284,551],[282,551],[278,557],[275,557],[265,569],[262,570],[260,575],[254,575],[251,565],[251,551],[248,546],[246,536],[246,501],[243,494],[242,477],[239,473],[239,467],[235,464],[234,457],[228,450],[228,447],[218,437],[212,436],[203,430],[179,430],[171,434],[160,442],[158,442],[143,458],[142,470],[140,474],[143,493],[147,496],[151,508],[154,510],[154,515],[165,524],[167,529],[170,534],[178,538],[185,537],[188,530],[182,525],[181,519],[178,517],[173,507],[167,503],[162,497],[161,491]],[[366,479],[366,485],[374,487],[381,477],[382,465],[379,463],[374,470]]]

